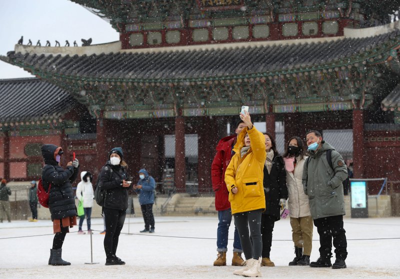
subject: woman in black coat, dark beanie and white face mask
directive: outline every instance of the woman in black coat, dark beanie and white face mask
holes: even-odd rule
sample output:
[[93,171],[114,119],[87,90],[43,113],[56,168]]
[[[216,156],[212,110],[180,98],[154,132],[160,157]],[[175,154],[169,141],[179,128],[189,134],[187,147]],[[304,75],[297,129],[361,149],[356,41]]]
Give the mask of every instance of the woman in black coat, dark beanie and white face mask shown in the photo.
[[131,184],[126,181],[126,163],[123,161],[122,148],[112,148],[108,158],[98,174],[98,187],[105,190],[102,208],[105,222],[105,265],[125,264],[115,253],[119,233],[125,221],[128,208],[128,189]]

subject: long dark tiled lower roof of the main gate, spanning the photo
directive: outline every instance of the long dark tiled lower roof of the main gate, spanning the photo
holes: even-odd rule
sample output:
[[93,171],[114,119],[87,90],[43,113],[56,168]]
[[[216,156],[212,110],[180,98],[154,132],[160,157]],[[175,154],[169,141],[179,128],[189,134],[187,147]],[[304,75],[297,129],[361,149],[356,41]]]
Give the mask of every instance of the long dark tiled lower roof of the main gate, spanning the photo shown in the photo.
[[[392,40],[392,41],[390,41]],[[388,42],[388,45],[385,43]],[[235,78],[246,74],[278,74],[288,69],[350,63],[349,57],[364,55],[373,48],[394,47],[400,30],[373,37],[343,38],[303,44],[275,44],[223,49],[115,52],[108,54],[65,55],[28,54],[10,51],[1,57],[9,63],[37,73],[94,79],[132,81],[194,81]],[[385,53],[387,51],[385,50]],[[376,55],[378,55],[377,53]],[[368,54],[363,58],[369,58]],[[333,66],[335,66],[334,64]]]

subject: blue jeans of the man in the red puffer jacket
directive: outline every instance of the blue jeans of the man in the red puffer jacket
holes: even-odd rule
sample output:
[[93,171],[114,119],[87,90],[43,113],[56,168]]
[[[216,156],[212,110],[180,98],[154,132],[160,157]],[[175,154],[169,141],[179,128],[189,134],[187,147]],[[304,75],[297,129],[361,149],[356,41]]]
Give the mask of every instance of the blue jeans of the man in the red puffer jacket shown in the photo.
[[[232,211],[229,209],[218,211],[218,228],[216,229],[216,250],[226,252],[228,245],[228,232],[230,222],[232,221]],[[241,244],[236,225],[233,234],[233,251],[241,253]]]

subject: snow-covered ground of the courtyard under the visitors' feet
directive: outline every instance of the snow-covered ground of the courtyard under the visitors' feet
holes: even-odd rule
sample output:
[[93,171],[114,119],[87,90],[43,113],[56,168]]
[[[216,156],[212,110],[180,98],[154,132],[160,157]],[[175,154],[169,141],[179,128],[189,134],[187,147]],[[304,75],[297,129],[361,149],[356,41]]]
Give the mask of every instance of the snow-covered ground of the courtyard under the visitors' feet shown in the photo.
[[[156,217],[155,233],[138,233],[141,217],[125,220],[117,256],[125,265],[105,266],[102,219],[92,220],[93,262],[90,236],[78,235],[77,227],[65,237],[62,257],[69,266],[47,264],[52,244],[50,221],[0,223],[0,278],[239,278],[234,266],[212,266],[216,258],[216,216]],[[83,224],[83,229],[86,223]],[[261,267],[266,278],[400,278],[400,218],[344,219],[348,239],[346,269],[287,266],[294,257],[288,219],[275,223],[271,260],[275,267]],[[229,231],[233,237],[233,228]],[[33,237],[18,237],[40,235]],[[7,238],[17,237],[17,238]],[[395,239],[373,239],[395,238]],[[311,260],[318,257],[318,233],[314,228]],[[229,240],[227,261],[232,256]]]

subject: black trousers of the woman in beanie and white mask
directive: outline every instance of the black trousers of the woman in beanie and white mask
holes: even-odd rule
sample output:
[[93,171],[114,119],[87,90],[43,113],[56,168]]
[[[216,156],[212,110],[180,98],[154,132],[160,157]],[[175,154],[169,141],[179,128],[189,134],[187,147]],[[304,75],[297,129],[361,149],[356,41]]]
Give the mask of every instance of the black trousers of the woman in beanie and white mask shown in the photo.
[[103,207],[105,236],[104,251],[107,258],[115,255],[118,246],[119,234],[125,221],[126,210]]

